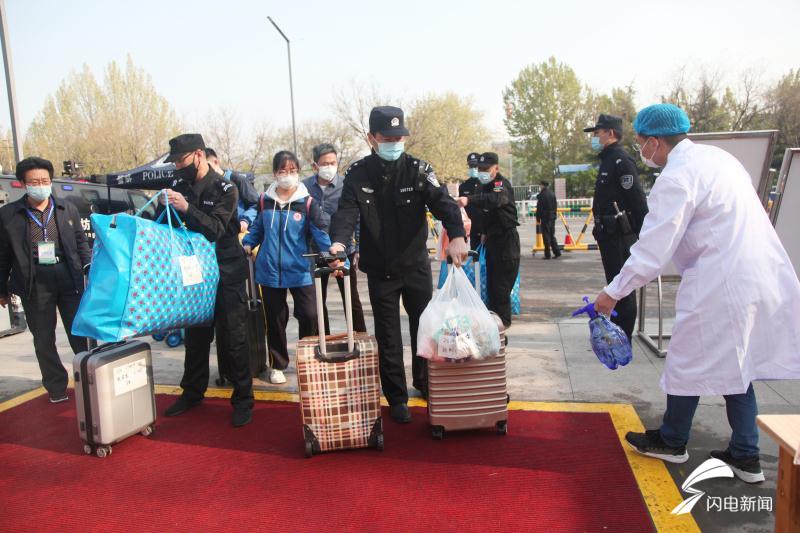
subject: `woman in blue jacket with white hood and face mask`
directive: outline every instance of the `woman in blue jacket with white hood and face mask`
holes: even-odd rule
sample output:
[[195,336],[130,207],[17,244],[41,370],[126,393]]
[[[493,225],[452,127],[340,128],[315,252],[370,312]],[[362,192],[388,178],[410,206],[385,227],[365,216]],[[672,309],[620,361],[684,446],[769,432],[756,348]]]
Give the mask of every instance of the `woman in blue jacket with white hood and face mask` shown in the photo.
[[271,383],[286,383],[283,371],[289,366],[286,324],[289,321],[287,290],[294,300],[294,317],[299,322],[300,338],[317,334],[317,305],[311,275],[308,238],[320,250],[331,246],[326,230],[328,216],[320,209],[306,186],[300,183],[300,162],[288,151],[275,154],[272,172],[275,180],[259,200],[261,212],[242,240],[247,253],[260,245],[256,257],[256,282],[261,285],[264,314],[267,317]]

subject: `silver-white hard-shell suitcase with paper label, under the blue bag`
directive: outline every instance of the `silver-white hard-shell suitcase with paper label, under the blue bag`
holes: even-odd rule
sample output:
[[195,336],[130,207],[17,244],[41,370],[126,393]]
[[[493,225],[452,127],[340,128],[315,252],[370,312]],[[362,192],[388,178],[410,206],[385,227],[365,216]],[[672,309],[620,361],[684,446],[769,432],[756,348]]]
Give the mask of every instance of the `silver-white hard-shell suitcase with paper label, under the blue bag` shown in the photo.
[[149,344],[104,344],[76,355],[72,369],[84,452],[105,457],[113,444],[153,432],[156,401]]

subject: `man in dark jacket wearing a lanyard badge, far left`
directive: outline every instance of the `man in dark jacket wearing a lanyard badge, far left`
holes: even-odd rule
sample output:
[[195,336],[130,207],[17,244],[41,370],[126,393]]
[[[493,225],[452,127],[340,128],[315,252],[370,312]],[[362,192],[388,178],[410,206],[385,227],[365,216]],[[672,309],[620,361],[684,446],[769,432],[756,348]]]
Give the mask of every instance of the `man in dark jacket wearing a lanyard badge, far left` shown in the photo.
[[86,339],[72,335],[72,320],[92,254],[78,210],[52,197],[53,164],[28,157],[16,175],[26,194],[0,209],[0,305],[11,293],[22,298],[42,385],[58,403],[68,399],[68,374],[56,350],[56,309],[72,351],[85,351]]

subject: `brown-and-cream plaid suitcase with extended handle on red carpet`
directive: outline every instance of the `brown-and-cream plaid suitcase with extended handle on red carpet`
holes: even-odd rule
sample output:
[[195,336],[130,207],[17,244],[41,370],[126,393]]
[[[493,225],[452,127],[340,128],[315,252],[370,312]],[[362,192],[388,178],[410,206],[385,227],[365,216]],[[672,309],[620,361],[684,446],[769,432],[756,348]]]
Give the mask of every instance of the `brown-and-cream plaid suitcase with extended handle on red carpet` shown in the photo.
[[297,343],[297,383],[306,457],[347,448],[383,450],[378,345],[366,333],[353,334],[350,277],[344,276],[347,333],[325,338],[320,275],[314,271],[320,337]]

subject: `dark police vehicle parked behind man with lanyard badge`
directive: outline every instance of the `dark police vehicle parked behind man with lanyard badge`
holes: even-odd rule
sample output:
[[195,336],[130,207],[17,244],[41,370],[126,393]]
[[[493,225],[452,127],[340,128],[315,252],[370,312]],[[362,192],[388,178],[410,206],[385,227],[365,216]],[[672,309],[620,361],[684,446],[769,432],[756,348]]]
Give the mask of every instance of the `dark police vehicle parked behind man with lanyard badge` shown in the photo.
[[[25,194],[25,185],[16,176],[0,176],[0,206],[14,202]],[[94,232],[89,223],[92,213],[128,213],[133,214],[144,206],[150,197],[136,189],[119,189],[99,183],[89,183],[70,179],[53,180],[53,196],[56,200],[69,200],[81,215],[81,225],[89,238],[89,245],[94,242]],[[142,217],[155,220],[154,204],[147,206]]]

